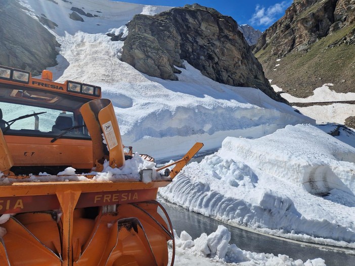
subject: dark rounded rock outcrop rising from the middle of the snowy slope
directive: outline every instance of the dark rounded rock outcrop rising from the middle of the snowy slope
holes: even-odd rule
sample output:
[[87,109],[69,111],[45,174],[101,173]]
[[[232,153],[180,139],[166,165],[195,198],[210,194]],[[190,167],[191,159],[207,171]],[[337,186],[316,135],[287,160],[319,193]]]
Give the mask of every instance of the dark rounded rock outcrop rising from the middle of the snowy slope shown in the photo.
[[233,18],[194,4],[155,16],[136,15],[128,24],[122,61],[154,77],[177,80],[183,61],[219,83],[259,88],[283,101],[264,77]]

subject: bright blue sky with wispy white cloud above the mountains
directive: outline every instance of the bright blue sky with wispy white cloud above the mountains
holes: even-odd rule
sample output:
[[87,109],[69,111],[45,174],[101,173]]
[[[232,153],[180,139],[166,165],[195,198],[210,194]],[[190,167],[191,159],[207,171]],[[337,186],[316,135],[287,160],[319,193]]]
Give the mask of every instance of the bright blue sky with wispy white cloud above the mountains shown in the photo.
[[261,31],[281,18],[292,4],[292,0],[121,0],[120,2],[168,7],[183,7],[186,4],[198,3],[233,17],[238,24],[249,24]]

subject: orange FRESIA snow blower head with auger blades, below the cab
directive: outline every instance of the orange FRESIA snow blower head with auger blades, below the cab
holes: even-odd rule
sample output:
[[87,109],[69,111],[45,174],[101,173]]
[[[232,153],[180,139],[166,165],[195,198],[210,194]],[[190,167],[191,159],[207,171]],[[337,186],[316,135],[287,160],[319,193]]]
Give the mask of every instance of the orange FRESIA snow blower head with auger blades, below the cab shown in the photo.
[[[158,187],[168,183],[70,181],[2,186],[1,196],[7,197],[0,197],[0,213],[20,214],[2,225],[7,234],[0,237],[0,262],[8,260],[11,266],[24,261],[30,266],[167,265],[166,242],[172,233],[157,204],[147,202],[156,198]],[[7,209],[7,200],[10,207],[21,203],[17,209]],[[86,207],[105,205],[117,207],[105,214],[100,211],[95,219],[83,215]],[[56,212],[59,224],[47,209],[60,209]]]

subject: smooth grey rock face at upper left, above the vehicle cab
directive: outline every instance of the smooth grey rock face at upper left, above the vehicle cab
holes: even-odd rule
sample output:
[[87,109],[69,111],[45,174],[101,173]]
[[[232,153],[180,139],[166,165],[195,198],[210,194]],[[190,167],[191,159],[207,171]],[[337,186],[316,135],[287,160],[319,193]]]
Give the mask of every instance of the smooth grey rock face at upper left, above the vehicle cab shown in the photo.
[[31,71],[57,65],[56,41],[45,27],[28,16],[16,1],[0,1],[0,65]]

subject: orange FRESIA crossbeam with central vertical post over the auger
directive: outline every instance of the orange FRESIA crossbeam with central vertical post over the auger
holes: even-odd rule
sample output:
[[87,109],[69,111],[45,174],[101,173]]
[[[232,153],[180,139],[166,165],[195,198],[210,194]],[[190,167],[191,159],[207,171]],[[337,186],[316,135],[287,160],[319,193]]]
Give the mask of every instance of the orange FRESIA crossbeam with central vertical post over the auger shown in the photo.
[[[63,265],[73,261],[73,215],[77,207],[155,200],[159,187],[169,182],[19,182],[2,186],[0,214],[61,209]],[[46,191],[46,195],[43,195]],[[16,196],[14,196],[16,195]],[[0,244],[1,246],[1,244]]]

